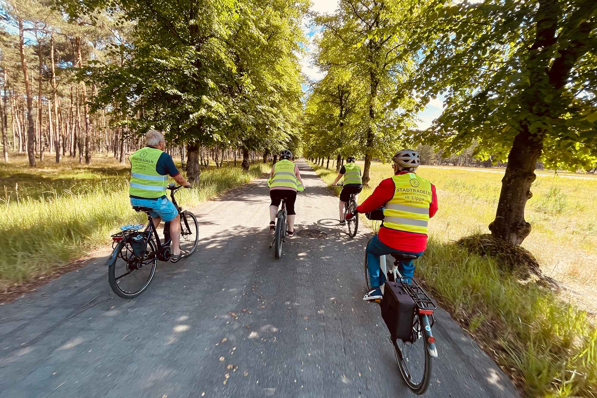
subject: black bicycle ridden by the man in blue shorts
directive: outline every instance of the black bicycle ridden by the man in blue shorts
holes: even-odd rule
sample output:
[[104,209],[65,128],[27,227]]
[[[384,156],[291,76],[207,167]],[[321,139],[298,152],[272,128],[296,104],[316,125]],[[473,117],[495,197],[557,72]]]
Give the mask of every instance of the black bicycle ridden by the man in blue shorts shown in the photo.
[[[170,198],[180,214],[180,249],[195,251],[198,242],[199,226],[192,212],[183,211],[176,203],[174,193],[183,186],[170,184]],[[150,214],[152,209],[143,206],[133,206],[137,212],[145,212],[149,223],[143,230],[144,224],[134,224],[121,227],[121,232],[112,235],[112,255],[107,260],[108,283],[110,288],[123,298],[134,298],[140,295],[153,279],[156,264],[159,261],[169,261],[172,255],[170,249],[170,222],[164,226],[164,242],[159,239],[158,231],[153,225]]]

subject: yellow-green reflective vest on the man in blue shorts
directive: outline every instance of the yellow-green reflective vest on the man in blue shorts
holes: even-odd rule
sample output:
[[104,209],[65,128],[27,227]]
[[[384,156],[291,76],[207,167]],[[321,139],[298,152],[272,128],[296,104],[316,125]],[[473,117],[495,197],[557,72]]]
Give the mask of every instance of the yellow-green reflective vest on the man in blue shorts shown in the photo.
[[168,176],[158,174],[156,166],[162,151],[144,147],[129,156],[131,183],[128,194],[139,198],[154,199],[166,195]]

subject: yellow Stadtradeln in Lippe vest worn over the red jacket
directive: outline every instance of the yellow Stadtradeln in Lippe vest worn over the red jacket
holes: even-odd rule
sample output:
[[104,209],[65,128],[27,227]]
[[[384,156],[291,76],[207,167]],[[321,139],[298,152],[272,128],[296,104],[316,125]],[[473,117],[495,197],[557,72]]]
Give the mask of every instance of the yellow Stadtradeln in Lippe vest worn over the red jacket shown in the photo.
[[392,177],[395,191],[383,211],[383,226],[405,232],[429,231],[429,205],[432,200],[431,183],[413,172]]

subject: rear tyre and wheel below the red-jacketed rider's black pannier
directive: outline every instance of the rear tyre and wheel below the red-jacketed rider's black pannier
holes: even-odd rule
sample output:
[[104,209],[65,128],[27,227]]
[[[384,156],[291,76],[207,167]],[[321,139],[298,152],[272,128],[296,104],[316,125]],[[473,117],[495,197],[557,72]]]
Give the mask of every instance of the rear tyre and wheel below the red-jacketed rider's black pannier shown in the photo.
[[[417,322],[421,323],[421,320],[418,319]],[[421,336],[414,343],[404,343],[398,341],[393,341],[392,343],[394,345],[396,363],[398,364],[398,369],[400,370],[402,379],[407,384],[408,388],[410,388],[410,390],[413,391],[413,393],[417,395],[424,394],[425,391],[427,391],[427,387],[429,387],[432,369],[432,356],[429,354],[424,334],[421,334]],[[417,360],[417,358],[411,356],[410,354],[410,352],[414,353],[416,352],[416,350],[421,350],[421,348],[419,348],[418,345],[417,348],[414,348],[414,345],[417,343],[422,347],[424,351],[424,360],[418,356]],[[402,348],[400,348],[400,344],[404,344],[402,345]],[[408,351],[405,349],[406,347],[408,347]],[[405,353],[405,351],[407,352]],[[424,361],[424,363],[421,364],[421,361]],[[413,380],[413,371],[415,370],[414,368],[417,366],[417,362],[419,365],[418,367],[422,365],[423,369],[422,372],[417,372],[417,376],[415,377],[415,380]],[[418,377],[419,375],[420,377]]]

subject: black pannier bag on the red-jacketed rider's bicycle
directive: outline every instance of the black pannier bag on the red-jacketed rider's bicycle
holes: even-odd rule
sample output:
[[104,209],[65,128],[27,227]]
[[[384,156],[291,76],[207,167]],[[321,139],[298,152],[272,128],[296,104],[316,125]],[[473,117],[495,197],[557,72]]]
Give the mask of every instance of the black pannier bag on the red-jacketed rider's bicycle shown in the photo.
[[381,300],[381,317],[390,331],[392,340],[413,340],[413,298],[399,282],[386,282]]

